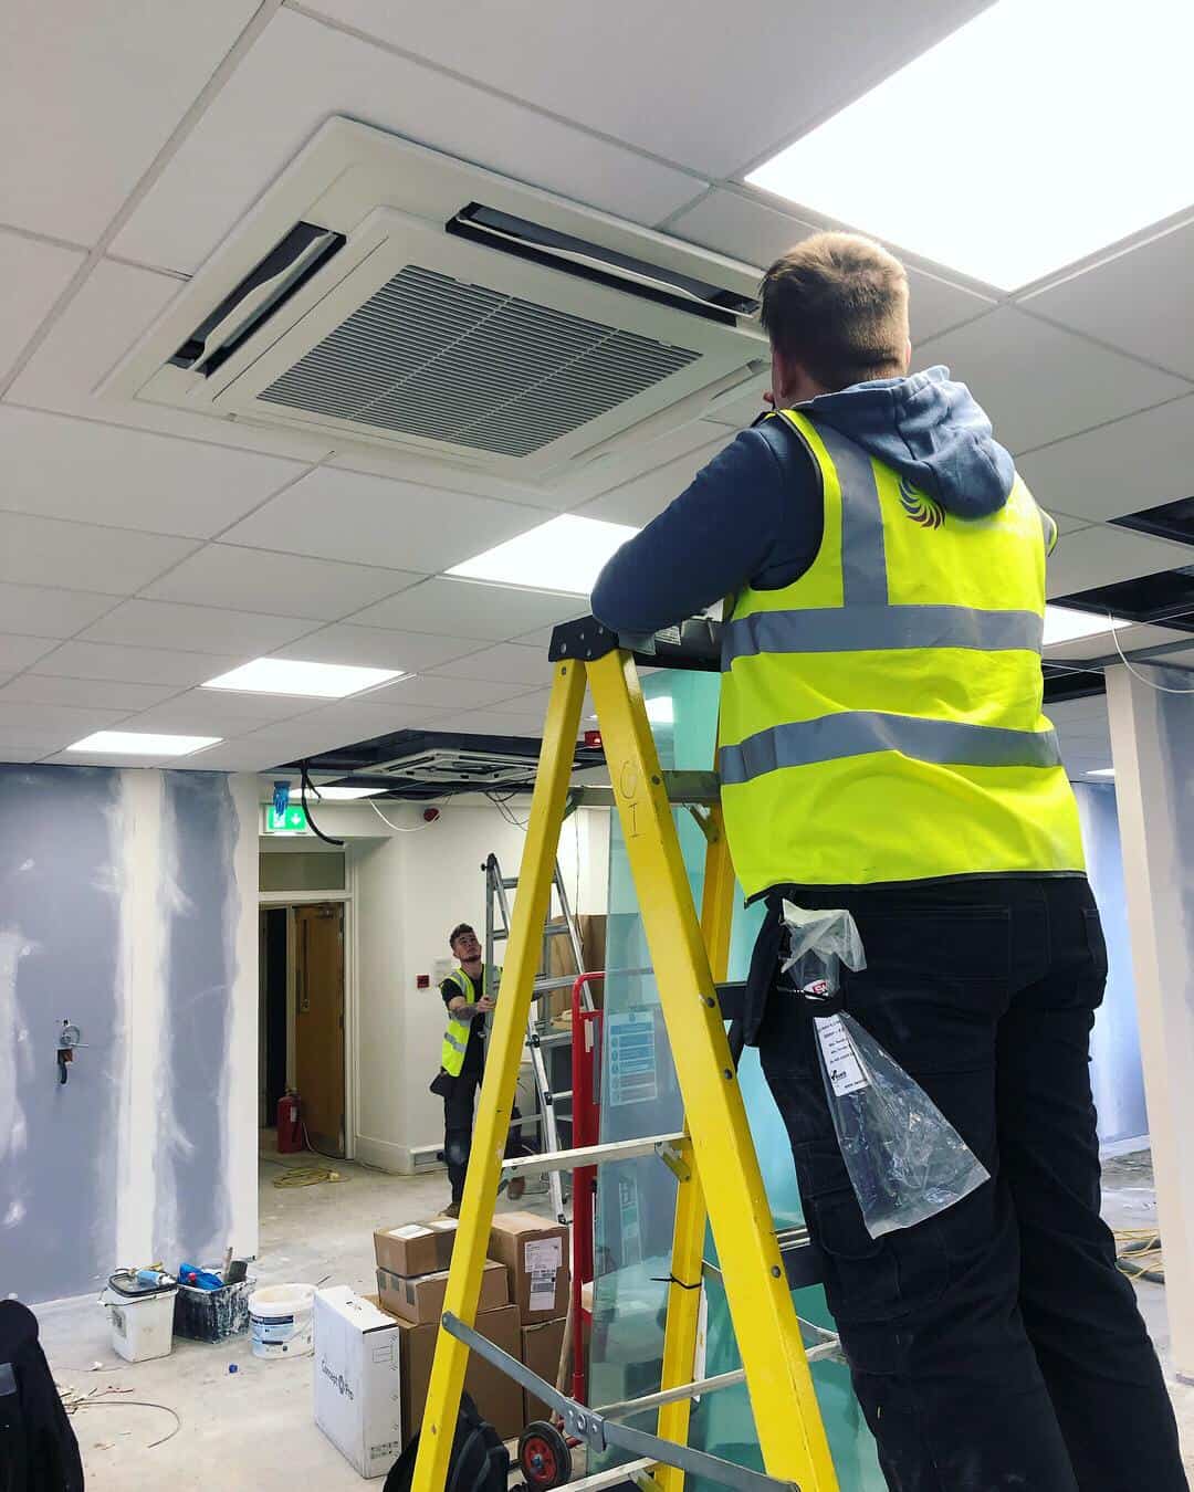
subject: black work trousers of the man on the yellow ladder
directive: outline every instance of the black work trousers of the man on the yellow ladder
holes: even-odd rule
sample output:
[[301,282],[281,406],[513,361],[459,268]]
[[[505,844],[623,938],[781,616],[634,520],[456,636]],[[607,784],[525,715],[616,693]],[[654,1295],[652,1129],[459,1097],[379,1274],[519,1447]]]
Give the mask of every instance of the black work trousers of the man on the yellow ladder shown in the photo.
[[834,1138],[812,1019],[772,989],[760,1055],[830,1308],[893,1492],[1187,1492],[1173,1410],[1101,1222],[1090,1032],[1106,946],[1084,877],[793,889],[848,907],[849,1013],[993,1180],[873,1240]]

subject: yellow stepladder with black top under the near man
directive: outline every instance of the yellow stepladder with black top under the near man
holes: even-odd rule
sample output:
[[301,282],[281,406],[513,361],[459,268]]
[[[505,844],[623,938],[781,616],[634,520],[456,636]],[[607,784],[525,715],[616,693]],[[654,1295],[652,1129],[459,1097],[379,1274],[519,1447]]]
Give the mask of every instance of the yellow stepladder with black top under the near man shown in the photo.
[[[710,773],[663,771],[636,671],[636,658],[657,667],[715,668],[715,628],[707,622],[685,624],[673,634],[657,634],[648,645],[627,640],[621,646],[616,634],[587,618],[555,628],[549,658],[552,692],[524,874],[494,1013],[412,1492],[443,1492],[446,1486],[470,1352],[481,1353],[540,1395],[563,1416],[566,1429],[590,1447],[613,1446],[637,1456],[631,1467],[618,1470],[619,1479],[631,1477],[663,1492],[681,1492],[685,1474],[707,1476],[736,1492],[793,1492],[794,1488],[836,1492],[837,1480],[809,1370],[810,1361],[836,1349],[827,1334],[806,1347],[791,1298],[793,1285],[810,1283],[810,1276],[801,1276],[800,1261],[813,1250],[806,1235],[778,1237],[775,1232],[718,997],[716,980],[724,980],[728,962],[734,874],[716,779]],[[569,804],[585,685],[597,704],[612,780],[607,792],[622,824],[684,1097],[685,1123],[670,1135],[503,1162],[539,937],[549,916],[555,847]],[[700,922],[672,819],[676,803],[704,806],[707,852]],[[503,1171],[519,1174],[546,1164],[573,1168],[652,1152],[669,1164],[679,1182],[661,1391],[591,1410],[566,1398],[475,1329],[498,1183]],[[709,1273],[703,1258],[706,1219],[713,1231],[742,1370],[693,1383],[698,1286]],[[746,1383],[751,1397],[763,1473],[694,1450],[687,1443],[693,1399],[740,1382]],[[658,1408],[655,1435],[622,1423],[625,1416],[652,1407]],[[609,1480],[609,1474],[601,1476]]]

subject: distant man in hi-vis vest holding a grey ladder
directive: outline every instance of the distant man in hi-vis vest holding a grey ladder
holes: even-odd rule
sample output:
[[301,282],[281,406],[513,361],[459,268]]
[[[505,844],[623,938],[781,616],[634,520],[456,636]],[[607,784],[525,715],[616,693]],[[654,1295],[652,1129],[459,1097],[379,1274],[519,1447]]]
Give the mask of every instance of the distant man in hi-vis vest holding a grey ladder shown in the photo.
[[[448,934],[448,946],[460,967],[439,986],[443,1004],[448,1007],[448,1026],[440,1049],[440,1070],[431,1091],[443,1098],[443,1159],[448,1165],[448,1180],[452,1186],[452,1201],[443,1209],[445,1217],[460,1217],[460,1200],[464,1195],[464,1177],[469,1171],[469,1152],[473,1147],[473,1116],[476,1113],[476,1091],[485,1070],[485,1016],[496,1006],[496,991],[488,986],[481,941],[467,922],[461,922]],[[519,1119],[518,1109],[513,1118]],[[507,1155],[519,1153],[521,1129],[510,1125],[506,1144]],[[516,1201],[525,1182],[512,1177],[507,1195]]]

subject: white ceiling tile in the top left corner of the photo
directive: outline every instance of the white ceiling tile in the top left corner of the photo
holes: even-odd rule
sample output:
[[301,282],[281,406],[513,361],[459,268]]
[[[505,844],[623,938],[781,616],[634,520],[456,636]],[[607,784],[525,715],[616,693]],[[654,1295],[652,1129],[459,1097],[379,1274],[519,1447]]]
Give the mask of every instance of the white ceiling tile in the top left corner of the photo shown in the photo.
[[257,0],[7,0],[4,218],[93,243],[252,18]]

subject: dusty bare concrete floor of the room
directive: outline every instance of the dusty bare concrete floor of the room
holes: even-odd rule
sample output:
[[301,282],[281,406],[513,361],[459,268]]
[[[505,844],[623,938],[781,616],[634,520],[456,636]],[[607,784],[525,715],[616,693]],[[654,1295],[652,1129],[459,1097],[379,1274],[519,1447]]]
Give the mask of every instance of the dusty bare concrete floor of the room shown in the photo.
[[[288,1158],[290,1159],[290,1158]],[[373,1289],[373,1228],[433,1214],[448,1198],[442,1174],[396,1177],[340,1162],[346,1180],[278,1189],[278,1162],[261,1167],[263,1283],[330,1282]],[[1107,1214],[1116,1228],[1155,1222],[1151,1173],[1125,1158],[1107,1165]],[[536,1206],[528,1197],[527,1204]],[[519,1204],[524,1206],[524,1204]],[[542,1204],[540,1204],[542,1206]],[[1140,1285],[1140,1301],[1167,1359],[1164,1289]],[[130,1404],[81,1410],[76,1434],[88,1492],[318,1492],[360,1488],[361,1479],[312,1419],[312,1359],[263,1362],[246,1338],[224,1346],[178,1341],[169,1358],[122,1364],[110,1347],[104,1311],[93,1301],[39,1310],[42,1335],[61,1385],[81,1392],[109,1383],[128,1399],[166,1404],[170,1414]],[[101,1364],[93,1370],[93,1364]],[[230,1365],[237,1371],[228,1371]],[[1194,1389],[1175,1386],[1194,1470]],[[379,1483],[373,1483],[378,1486]],[[851,1489],[843,1489],[851,1492]]]

